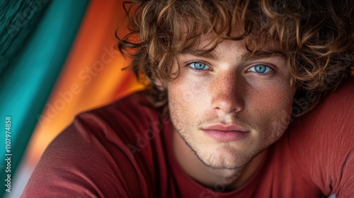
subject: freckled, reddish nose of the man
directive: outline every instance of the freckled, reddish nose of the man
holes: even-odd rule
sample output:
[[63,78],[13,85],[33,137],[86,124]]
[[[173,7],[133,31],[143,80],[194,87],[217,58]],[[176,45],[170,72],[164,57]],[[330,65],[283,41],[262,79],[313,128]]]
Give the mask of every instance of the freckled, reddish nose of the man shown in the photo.
[[239,112],[244,106],[244,82],[236,71],[225,71],[211,84],[211,105],[218,114]]

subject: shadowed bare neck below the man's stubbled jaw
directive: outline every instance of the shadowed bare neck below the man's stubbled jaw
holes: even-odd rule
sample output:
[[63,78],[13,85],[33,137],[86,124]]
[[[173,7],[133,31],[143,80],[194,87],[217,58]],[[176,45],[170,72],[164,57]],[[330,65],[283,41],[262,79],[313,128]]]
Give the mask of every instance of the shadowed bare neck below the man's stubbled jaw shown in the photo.
[[194,180],[217,191],[232,191],[244,185],[265,161],[263,151],[243,168],[235,170],[212,169],[205,166],[183,141],[178,132],[173,132],[173,153],[181,168]]

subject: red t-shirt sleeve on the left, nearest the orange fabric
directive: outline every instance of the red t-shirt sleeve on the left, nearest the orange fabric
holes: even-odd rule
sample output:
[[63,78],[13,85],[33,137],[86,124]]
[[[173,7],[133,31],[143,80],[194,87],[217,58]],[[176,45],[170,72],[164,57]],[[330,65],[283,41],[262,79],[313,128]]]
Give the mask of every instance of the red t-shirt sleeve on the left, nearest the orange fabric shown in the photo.
[[113,144],[104,125],[76,118],[48,146],[22,197],[142,197],[125,145]]

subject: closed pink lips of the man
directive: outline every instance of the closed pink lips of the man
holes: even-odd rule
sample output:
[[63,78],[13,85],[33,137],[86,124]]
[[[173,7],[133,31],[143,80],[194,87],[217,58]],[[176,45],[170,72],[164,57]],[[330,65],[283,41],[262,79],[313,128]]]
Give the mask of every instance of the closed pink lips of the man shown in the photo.
[[202,131],[216,141],[240,141],[249,134],[249,130],[236,124],[213,124]]

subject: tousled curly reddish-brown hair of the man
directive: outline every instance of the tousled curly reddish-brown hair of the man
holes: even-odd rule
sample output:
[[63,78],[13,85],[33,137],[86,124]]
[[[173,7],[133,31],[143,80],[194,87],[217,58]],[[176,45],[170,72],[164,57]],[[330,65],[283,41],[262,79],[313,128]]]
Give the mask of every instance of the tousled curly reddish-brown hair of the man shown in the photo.
[[[129,6],[127,6],[129,5]],[[118,37],[118,49],[132,57],[137,78],[147,80],[156,106],[167,102],[156,81],[173,81],[176,55],[212,51],[222,40],[244,40],[250,52],[273,40],[285,52],[295,98],[302,115],[333,92],[353,66],[353,5],[350,0],[154,0],[123,6],[130,33]],[[237,28],[241,33],[232,36]],[[238,29],[238,30],[239,30]],[[213,35],[212,47],[193,50],[200,36]],[[351,71],[353,72],[353,71]]]

